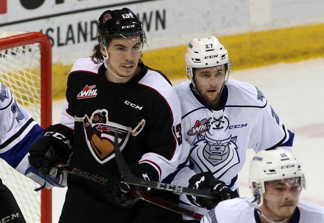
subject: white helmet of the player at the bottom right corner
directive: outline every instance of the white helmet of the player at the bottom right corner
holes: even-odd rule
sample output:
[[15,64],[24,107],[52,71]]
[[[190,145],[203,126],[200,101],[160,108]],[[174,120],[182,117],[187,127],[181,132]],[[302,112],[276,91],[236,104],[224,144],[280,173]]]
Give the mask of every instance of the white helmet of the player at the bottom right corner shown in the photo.
[[257,204],[263,204],[263,194],[267,190],[267,181],[297,178],[305,189],[306,180],[301,165],[287,149],[278,147],[274,150],[257,152],[250,161],[249,186],[254,196],[260,198]]

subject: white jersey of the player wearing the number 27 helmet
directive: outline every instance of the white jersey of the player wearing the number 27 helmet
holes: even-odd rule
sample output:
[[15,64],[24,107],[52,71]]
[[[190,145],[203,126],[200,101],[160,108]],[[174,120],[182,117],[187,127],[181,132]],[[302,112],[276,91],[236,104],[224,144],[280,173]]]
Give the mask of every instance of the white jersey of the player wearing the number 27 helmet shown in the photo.
[[[223,109],[219,111],[209,109],[206,102],[194,93],[190,81],[175,87],[175,90],[181,102],[183,141],[190,144],[187,148],[186,144],[183,145],[181,161],[189,155],[190,166],[169,176],[168,181],[172,184],[188,186],[193,174],[209,171],[234,191],[248,148],[258,152],[292,146],[294,134],[281,123],[257,87],[228,80],[222,91]],[[185,195],[180,199],[190,204]],[[207,212],[198,207],[184,207],[201,214]]]

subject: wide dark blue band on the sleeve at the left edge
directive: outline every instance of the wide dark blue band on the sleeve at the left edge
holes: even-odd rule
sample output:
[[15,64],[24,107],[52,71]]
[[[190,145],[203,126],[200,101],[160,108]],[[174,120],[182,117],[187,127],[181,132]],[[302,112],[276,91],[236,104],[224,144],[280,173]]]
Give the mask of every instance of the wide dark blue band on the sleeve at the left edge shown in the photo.
[[19,143],[1,153],[0,158],[4,159],[11,167],[16,168],[28,153],[29,147],[42,137],[42,133],[43,129],[36,124]]

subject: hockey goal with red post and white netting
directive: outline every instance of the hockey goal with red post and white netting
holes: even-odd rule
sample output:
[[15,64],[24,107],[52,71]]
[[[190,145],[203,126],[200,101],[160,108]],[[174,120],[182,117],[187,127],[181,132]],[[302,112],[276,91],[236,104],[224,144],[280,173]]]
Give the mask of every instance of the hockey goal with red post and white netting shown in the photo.
[[[52,121],[51,69],[51,44],[46,35],[0,31],[0,82],[43,128]],[[52,222],[51,190],[35,192],[39,185],[2,159],[0,178],[15,196],[28,223]]]

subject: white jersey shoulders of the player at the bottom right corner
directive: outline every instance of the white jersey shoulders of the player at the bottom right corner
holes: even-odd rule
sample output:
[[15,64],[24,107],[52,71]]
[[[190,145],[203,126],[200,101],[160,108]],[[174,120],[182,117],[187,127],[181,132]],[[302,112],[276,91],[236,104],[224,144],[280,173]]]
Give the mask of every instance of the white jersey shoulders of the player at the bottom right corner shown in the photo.
[[[200,220],[200,223],[260,223],[258,211],[251,204],[253,199],[248,197],[221,201]],[[289,222],[324,222],[324,208],[299,200]]]

